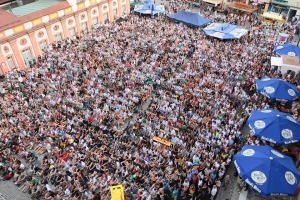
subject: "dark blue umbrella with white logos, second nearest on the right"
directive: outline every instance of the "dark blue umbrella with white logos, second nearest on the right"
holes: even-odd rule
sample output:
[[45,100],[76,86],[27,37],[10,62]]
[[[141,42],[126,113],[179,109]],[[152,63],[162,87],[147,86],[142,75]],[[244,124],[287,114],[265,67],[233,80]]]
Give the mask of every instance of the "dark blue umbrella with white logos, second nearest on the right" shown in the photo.
[[271,108],[252,111],[247,125],[255,136],[274,144],[300,141],[300,123],[292,115]]

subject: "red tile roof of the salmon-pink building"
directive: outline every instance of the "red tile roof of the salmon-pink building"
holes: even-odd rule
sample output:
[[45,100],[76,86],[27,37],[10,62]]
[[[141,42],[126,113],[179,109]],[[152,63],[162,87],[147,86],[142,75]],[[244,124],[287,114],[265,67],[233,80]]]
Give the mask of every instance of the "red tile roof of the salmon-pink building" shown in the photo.
[[32,21],[34,19],[38,19],[45,15],[52,14],[59,10],[63,10],[69,8],[70,4],[67,1],[61,2],[54,6],[39,10],[37,12],[30,13],[28,15],[24,15],[21,17],[17,17],[12,13],[9,13],[3,9],[0,9],[0,31],[4,31],[18,25],[24,24],[26,22]]

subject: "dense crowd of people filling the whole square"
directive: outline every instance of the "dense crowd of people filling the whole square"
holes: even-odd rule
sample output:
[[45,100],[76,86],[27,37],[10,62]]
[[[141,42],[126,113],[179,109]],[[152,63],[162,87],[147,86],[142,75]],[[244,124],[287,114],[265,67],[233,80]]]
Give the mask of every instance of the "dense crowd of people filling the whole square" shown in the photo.
[[126,199],[214,199],[232,183],[226,169],[243,143],[263,144],[242,136],[251,111],[272,106],[255,79],[300,85],[299,73],[270,65],[274,26],[253,23],[222,41],[163,16],[127,19],[55,42],[32,68],[5,74],[3,181],[33,199],[110,199],[117,184]]

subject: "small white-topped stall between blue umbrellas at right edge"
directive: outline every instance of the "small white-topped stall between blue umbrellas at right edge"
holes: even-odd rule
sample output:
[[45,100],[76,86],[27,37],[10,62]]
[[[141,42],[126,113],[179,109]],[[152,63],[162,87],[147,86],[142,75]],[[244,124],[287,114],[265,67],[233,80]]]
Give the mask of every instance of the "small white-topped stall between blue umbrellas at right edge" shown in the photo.
[[281,57],[271,57],[271,65],[278,66],[278,70],[285,74],[288,70],[297,73],[300,70],[299,58],[297,56],[282,55]]

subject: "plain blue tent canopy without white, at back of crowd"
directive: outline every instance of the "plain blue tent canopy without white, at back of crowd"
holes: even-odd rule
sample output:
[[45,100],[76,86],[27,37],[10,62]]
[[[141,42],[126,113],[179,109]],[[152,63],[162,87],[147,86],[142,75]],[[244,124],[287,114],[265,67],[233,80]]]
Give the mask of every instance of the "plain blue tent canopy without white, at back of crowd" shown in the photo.
[[197,13],[188,12],[188,11],[184,11],[184,10],[181,10],[178,13],[169,15],[168,17],[175,21],[179,21],[184,24],[188,24],[190,26],[196,26],[196,27],[201,27],[201,26],[204,26],[204,25],[208,24],[209,22],[211,22],[210,19],[201,17]]

